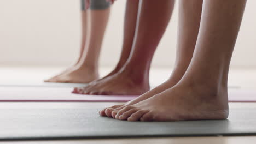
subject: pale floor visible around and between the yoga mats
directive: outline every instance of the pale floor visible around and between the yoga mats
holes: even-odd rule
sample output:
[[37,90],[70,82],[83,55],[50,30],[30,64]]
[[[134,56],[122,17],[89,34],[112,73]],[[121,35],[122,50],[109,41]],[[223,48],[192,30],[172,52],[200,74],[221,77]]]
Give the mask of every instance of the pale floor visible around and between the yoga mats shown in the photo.
[[[60,71],[59,68],[0,68],[1,75],[0,80],[15,83],[16,81],[20,82],[35,82],[42,81],[44,78],[48,78],[50,75],[54,75]],[[102,75],[107,74],[108,70],[103,71]],[[150,83],[154,85],[159,85],[161,82],[164,82],[170,75],[170,69],[167,70],[153,70],[153,73],[150,74]],[[17,75],[20,74],[20,75]],[[12,77],[10,79],[10,77]],[[31,79],[27,79],[30,77]],[[40,77],[40,79],[38,79]],[[256,70],[230,70],[229,75],[229,86],[239,86],[241,88],[254,88],[256,89]],[[68,109],[78,109],[84,107],[106,107],[115,105],[118,103],[0,103],[0,110],[7,108],[24,108],[24,109],[33,109],[33,108],[46,108],[51,107],[56,109],[68,108]],[[229,103],[230,108],[256,108],[256,103]],[[1,118],[0,118],[1,122]],[[256,125],[252,125],[252,127]],[[1,129],[1,128],[0,128]],[[1,129],[2,130],[2,129]],[[143,139],[90,139],[90,140],[50,140],[50,141],[4,141],[0,143],[256,143],[256,136],[222,136],[222,137],[167,137],[167,138],[143,138]]]

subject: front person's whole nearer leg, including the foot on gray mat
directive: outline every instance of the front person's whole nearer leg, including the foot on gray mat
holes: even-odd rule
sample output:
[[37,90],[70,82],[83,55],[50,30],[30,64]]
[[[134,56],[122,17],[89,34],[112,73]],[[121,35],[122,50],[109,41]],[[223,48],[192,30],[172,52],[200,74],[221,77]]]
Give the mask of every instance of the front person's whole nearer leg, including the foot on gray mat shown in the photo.
[[124,107],[115,118],[128,121],[228,118],[228,70],[245,5],[246,0],[203,1],[195,52],[182,79],[162,93]]

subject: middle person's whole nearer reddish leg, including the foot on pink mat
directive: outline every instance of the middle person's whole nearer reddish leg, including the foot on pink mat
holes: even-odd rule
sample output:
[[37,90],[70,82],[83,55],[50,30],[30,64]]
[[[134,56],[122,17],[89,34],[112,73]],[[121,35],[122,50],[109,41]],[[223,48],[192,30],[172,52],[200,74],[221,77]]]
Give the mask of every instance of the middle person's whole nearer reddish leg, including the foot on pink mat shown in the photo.
[[171,18],[174,1],[143,0],[139,5],[131,55],[118,74],[90,89],[89,94],[139,95],[149,90],[150,64]]

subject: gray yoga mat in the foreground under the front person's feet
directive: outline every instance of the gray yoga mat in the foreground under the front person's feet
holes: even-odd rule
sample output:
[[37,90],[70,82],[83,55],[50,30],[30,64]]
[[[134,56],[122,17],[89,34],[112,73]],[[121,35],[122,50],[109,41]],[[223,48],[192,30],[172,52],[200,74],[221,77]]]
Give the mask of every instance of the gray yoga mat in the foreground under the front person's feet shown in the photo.
[[231,109],[228,120],[127,122],[100,109],[1,109],[0,140],[256,135],[256,109]]

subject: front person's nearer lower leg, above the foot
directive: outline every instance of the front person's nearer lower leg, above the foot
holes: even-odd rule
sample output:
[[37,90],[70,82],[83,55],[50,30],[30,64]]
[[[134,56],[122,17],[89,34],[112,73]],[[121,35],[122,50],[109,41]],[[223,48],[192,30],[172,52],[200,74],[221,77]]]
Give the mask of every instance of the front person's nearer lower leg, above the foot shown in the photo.
[[229,64],[246,0],[203,3],[204,14],[196,50],[183,79],[203,83],[203,86],[217,90],[224,88],[226,91]]

